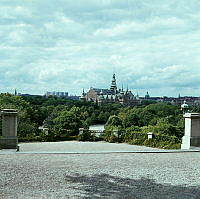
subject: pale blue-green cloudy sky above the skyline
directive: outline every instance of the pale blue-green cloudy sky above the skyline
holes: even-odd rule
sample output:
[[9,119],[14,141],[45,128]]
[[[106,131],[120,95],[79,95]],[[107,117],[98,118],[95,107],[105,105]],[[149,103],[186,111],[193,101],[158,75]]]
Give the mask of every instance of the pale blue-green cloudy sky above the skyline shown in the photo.
[[0,0],[0,92],[80,95],[113,73],[144,96],[200,96],[199,0]]

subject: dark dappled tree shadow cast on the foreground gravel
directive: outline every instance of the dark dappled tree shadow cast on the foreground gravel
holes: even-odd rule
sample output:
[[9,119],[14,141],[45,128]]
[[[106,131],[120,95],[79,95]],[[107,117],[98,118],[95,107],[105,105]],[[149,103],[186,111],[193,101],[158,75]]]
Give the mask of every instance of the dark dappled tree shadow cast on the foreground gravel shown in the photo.
[[120,178],[107,174],[65,176],[66,183],[85,192],[84,198],[200,199],[200,186],[158,184],[153,179]]

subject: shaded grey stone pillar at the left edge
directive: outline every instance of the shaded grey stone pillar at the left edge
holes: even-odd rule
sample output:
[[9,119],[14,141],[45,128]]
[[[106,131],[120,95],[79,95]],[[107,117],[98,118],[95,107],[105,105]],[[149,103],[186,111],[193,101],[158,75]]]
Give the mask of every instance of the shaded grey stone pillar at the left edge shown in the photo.
[[2,138],[0,138],[0,148],[18,149],[17,138],[17,110],[3,109],[2,116]]

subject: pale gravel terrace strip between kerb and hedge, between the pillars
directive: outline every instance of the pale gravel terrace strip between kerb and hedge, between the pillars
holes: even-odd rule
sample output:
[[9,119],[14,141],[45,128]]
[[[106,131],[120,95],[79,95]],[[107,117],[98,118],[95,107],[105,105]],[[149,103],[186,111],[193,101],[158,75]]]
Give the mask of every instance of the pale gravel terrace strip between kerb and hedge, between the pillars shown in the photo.
[[[69,152],[69,153],[99,153],[99,152],[126,152],[126,151],[157,151],[156,148],[136,146],[125,143],[108,142],[35,142],[20,143],[20,152]],[[162,150],[162,149],[161,149]]]

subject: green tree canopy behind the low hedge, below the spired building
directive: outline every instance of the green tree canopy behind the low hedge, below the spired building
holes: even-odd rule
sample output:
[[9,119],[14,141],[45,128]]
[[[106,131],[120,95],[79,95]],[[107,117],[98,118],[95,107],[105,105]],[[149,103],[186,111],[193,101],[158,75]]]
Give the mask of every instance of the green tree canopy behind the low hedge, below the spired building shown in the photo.
[[[17,109],[19,137],[39,135],[43,125],[52,133],[70,130],[77,135],[79,128],[105,124],[128,131],[153,129],[156,133],[181,137],[184,121],[180,107],[167,103],[152,103],[139,107],[74,101],[57,97],[0,95],[0,108]],[[195,107],[195,110],[200,110]],[[137,130],[136,130],[137,129]],[[146,131],[146,130],[145,130]]]

